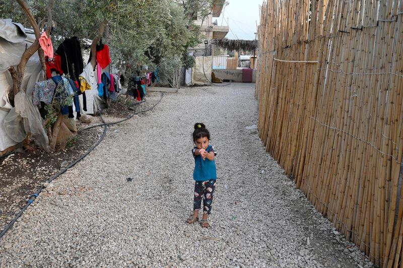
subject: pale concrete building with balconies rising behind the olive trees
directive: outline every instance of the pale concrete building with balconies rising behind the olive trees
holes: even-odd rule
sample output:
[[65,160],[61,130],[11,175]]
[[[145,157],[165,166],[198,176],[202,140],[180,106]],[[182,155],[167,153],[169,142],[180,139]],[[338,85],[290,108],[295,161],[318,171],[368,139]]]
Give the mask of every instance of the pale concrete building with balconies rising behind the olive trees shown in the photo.
[[[198,26],[195,31],[200,31],[201,35],[204,36],[204,40],[197,45],[196,47],[189,48],[189,52],[193,51],[195,56],[211,56],[212,49],[209,45],[206,50],[205,41],[210,42],[212,39],[215,38],[224,38],[227,33],[229,32],[229,27],[218,25],[217,19],[220,17],[223,11],[223,4],[218,3],[218,1],[214,1],[213,9],[211,14],[205,17],[197,17],[193,20],[193,23]],[[199,15],[200,16],[200,15]],[[203,15],[201,15],[203,16]],[[201,26],[201,27],[200,27]],[[206,52],[205,52],[206,50]]]

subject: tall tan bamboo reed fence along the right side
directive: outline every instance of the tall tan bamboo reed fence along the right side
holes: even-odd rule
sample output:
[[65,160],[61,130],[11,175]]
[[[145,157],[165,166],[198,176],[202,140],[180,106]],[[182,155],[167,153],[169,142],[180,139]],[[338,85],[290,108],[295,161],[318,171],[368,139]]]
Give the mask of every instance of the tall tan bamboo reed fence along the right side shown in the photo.
[[259,136],[376,265],[402,267],[403,2],[267,1]]

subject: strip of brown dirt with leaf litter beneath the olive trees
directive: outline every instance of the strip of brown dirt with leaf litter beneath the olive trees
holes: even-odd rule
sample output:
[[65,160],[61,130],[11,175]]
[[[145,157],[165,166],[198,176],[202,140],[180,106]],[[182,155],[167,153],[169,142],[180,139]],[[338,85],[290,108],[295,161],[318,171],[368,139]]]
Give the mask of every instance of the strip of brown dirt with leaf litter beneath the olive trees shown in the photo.
[[[130,97],[126,101],[119,98],[117,102],[103,111],[105,118],[127,118],[134,111],[136,101]],[[110,120],[108,120],[110,121]],[[112,120],[113,121],[113,120]],[[100,122],[95,118],[94,123]],[[77,121],[78,129],[89,124]],[[55,175],[94,145],[102,135],[103,128],[94,127],[83,132],[73,133],[75,139],[63,150],[47,153],[39,148],[27,151],[17,150],[14,154],[0,158],[0,232],[10,223],[15,215],[23,208],[31,194],[35,193],[41,184]]]

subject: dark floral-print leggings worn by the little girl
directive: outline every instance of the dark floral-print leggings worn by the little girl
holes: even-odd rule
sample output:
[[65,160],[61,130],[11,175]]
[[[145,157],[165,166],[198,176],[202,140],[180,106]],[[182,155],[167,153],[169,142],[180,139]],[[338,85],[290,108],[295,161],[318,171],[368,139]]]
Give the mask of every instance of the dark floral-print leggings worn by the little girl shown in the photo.
[[203,212],[204,214],[210,214],[215,188],[216,188],[216,180],[195,181],[193,210],[200,209],[201,199],[203,199]]

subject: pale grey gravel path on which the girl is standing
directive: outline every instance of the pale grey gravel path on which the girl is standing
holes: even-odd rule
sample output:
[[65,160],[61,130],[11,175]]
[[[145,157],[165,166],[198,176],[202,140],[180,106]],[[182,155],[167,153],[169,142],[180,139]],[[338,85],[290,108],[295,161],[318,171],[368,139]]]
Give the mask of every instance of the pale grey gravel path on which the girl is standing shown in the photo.
[[[185,223],[196,121],[218,151],[207,230]],[[371,266],[265,153],[253,124],[253,84],[165,94],[47,186],[0,241],[0,266]]]

